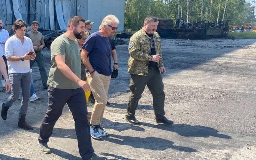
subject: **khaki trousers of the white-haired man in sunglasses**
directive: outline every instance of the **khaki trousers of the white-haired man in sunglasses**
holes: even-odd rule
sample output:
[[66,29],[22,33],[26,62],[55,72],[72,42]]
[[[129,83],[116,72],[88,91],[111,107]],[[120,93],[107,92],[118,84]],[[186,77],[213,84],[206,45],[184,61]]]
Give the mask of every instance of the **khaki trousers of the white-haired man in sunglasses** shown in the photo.
[[100,125],[108,100],[108,88],[111,76],[101,75],[95,71],[93,77],[91,77],[90,73],[86,73],[86,77],[95,98],[90,124]]

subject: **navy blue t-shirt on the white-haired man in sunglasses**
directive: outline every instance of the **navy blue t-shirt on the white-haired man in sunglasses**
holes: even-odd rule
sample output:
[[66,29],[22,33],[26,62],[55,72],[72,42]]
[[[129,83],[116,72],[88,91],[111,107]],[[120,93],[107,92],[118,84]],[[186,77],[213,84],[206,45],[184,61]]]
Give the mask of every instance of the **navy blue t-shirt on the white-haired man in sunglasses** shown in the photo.
[[91,66],[99,74],[110,76],[111,71],[111,37],[103,37],[98,31],[92,33],[82,46],[89,52]]

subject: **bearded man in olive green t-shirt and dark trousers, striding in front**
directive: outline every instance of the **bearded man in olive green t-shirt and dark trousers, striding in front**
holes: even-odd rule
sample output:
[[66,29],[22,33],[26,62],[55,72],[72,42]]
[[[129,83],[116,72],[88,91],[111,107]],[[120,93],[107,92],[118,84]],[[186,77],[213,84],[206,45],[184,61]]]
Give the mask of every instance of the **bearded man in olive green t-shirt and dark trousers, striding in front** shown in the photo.
[[97,159],[91,145],[87,105],[84,91],[90,86],[81,80],[81,55],[76,39],[84,33],[85,20],[81,16],[71,17],[67,32],[57,37],[51,45],[51,68],[49,72],[47,112],[43,118],[38,137],[42,152],[50,153],[47,143],[53,133],[53,127],[67,103],[75,121],[75,130],[79,153],[83,160]]

